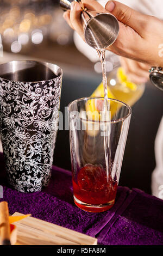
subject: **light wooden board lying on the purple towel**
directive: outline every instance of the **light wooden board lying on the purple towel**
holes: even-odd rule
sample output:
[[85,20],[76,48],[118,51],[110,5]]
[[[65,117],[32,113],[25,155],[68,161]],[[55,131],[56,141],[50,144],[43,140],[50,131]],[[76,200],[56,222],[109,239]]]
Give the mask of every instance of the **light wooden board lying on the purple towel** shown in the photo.
[[[15,212],[12,216],[22,216]],[[27,217],[15,223],[16,245],[97,245],[95,237],[60,227],[37,218]]]

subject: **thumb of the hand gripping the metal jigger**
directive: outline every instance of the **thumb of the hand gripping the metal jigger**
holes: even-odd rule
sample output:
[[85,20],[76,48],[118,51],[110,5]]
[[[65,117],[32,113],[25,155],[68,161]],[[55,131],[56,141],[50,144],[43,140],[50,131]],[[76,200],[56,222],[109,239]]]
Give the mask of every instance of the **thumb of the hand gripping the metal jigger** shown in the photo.
[[117,1],[109,1],[105,5],[105,9],[112,15],[116,16],[118,21],[121,21],[125,25],[133,28],[137,33],[141,34],[142,23],[146,21],[146,15],[131,9],[127,5],[124,5]]

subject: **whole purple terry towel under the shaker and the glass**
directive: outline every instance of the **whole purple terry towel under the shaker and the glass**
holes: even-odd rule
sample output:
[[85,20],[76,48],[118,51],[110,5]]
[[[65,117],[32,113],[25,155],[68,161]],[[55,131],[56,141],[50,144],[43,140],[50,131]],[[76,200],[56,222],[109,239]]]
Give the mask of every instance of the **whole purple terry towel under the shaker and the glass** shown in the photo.
[[137,189],[118,187],[116,203],[102,213],[85,212],[73,202],[71,172],[53,166],[48,187],[21,193],[5,182],[2,155],[0,184],[9,212],[32,214],[54,224],[96,236],[101,245],[163,245],[163,201]]

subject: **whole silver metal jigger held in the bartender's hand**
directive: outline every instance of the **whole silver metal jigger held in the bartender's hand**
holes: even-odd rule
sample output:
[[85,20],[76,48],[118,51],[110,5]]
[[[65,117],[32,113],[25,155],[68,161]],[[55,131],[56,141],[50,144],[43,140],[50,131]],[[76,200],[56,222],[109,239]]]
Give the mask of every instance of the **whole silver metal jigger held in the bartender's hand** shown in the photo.
[[[103,49],[112,45],[117,39],[120,27],[116,17],[109,13],[97,13],[83,7],[81,4],[82,23],[85,41],[93,48]],[[65,11],[71,9],[73,0],[60,0],[61,8]]]

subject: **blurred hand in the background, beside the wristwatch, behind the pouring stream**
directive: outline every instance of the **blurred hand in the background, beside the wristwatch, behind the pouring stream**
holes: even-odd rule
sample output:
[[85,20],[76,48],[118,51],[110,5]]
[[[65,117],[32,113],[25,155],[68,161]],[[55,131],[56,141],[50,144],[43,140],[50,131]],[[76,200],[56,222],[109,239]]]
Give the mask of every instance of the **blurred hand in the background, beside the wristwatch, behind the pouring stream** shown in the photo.
[[146,83],[149,80],[149,66],[142,62],[136,62],[133,59],[120,57],[121,66],[131,82],[136,84]]

